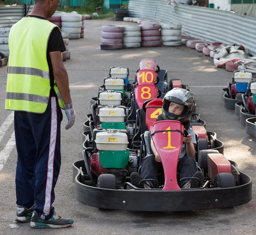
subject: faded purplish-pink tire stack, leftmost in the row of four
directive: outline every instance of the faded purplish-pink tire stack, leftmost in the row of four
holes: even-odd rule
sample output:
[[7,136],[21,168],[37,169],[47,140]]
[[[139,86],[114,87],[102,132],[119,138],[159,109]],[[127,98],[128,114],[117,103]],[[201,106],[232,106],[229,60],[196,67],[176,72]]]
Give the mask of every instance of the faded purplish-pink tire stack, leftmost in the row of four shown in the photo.
[[102,26],[102,39],[100,48],[102,50],[117,50],[123,48],[122,26]]

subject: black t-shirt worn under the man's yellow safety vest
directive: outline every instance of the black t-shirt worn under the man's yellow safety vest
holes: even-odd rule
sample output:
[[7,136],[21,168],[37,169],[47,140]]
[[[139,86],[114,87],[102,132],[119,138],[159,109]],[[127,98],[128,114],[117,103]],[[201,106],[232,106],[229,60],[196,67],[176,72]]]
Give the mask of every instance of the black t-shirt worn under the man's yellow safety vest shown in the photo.
[[[47,20],[44,17],[36,16],[36,15],[27,15],[27,17],[35,17],[43,20]],[[50,85],[54,85],[54,75],[52,70],[52,61],[50,57],[50,52],[64,52],[66,51],[64,41],[61,35],[60,30],[58,29],[58,26],[56,26],[49,37],[48,45],[47,45],[47,63],[49,66],[49,75],[50,75]],[[50,97],[56,96],[54,89],[51,89],[50,91]]]

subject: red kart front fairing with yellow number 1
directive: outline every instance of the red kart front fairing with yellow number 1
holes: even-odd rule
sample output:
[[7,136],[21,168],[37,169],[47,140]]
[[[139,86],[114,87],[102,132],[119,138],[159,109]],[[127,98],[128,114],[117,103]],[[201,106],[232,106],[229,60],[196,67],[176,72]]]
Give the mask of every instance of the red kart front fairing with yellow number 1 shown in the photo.
[[177,164],[183,143],[184,126],[179,121],[155,122],[150,128],[152,140],[163,164],[163,190],[180,190],[177,182]]

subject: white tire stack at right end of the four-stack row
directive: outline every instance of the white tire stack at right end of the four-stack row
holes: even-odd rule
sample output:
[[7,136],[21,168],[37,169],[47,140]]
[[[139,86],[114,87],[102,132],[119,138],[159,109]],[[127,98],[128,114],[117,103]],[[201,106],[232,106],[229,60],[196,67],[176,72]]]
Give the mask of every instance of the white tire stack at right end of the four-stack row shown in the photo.
[[163,23],[160,27],[163,46],[182,46],[181,24]]

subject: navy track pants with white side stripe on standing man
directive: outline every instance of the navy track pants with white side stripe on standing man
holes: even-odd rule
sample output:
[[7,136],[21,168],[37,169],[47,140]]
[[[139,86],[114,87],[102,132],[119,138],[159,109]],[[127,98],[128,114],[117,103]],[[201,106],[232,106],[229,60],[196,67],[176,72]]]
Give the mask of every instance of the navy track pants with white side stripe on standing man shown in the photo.
[[54,187],[61,166],[62,112],[56,97],[50,97],[43,114],[15,111],[17,147],[17,205],[30,208],[42,219],[54,212]]

